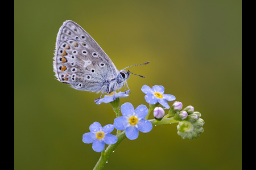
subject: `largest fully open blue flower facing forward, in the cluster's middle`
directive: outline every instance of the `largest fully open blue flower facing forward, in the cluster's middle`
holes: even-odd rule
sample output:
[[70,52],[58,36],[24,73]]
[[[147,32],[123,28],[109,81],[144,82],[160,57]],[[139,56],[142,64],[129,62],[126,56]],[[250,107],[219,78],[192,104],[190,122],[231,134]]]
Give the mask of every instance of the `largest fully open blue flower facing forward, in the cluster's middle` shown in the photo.
[[115,129],[125,130],[128,139],[134,140],[139,136],[139,131],[147,133],[152,129],[150,121],[144,119],[147,116],[146,105],[139,105],[135,111],[131,103],[125,103],[121,106],[123,116],[114,120]]

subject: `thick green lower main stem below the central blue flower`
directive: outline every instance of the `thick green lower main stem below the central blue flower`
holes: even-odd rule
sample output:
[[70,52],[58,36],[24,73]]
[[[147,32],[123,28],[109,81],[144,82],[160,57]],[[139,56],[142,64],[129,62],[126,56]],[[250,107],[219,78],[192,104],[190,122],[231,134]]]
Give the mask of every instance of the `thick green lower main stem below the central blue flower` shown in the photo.
[[126,138],[125,130],[122,131],[122,133],[117,134],[117,143],[114,143],[113,145],[109,145],[105,151],[101,152],[101,157],[98,160],[97,164],[93,168],[93,170],[100,170],[104,168],[104,165],[106,164],[107,160],[109,159],[109,156],[114,152],[115,148],[119,145],[120,142],[123,141],[123,139]]

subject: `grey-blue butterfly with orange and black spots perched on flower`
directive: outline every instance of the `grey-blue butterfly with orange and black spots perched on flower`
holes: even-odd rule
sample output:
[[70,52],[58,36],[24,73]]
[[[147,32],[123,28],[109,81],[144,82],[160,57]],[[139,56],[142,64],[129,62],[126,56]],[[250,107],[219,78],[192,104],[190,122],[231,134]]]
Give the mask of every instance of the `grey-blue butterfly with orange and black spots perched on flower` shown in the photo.
[[126,80],[134,73],[125,69],[117,70],[104,50],[77,23],[67,20],[60,27],[53,58],[53,71],[60,82],[76,90],[109,95],[122,87],[125,89],[125,84],[129,89]]

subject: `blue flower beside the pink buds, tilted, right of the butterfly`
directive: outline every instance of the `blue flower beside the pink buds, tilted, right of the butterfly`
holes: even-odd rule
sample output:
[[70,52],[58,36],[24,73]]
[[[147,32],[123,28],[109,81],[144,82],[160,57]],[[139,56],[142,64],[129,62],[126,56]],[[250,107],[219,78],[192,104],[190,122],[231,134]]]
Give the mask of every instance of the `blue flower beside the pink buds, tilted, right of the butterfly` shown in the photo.
[[148,87],[147,85],[142,86],[142,92],[145,95],[145,100],[149,104],[156,104],[160,103],[164,108],[169,109],[170,106],[167,103],[168,101],[175,100],[175,96],[173,95],[166,95],[164,94],[164,87],[163,86],[154,86],[153,88]]

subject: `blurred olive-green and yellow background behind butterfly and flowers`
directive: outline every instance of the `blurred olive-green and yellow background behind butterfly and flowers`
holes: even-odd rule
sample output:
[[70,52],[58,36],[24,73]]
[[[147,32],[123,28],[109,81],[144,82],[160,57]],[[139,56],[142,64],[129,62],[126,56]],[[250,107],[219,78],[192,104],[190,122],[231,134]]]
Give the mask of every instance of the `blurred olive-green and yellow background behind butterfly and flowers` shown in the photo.
[[177,135],[177,124],[125,139],[104,169],[242,168],[241,1],[14,2],[16,170],[93,169],[100,153],[82,134],[94,121],[115,118],[110,104],[94,104],[99,94],[55,79],[52,58],[65,20],[81,25],[119,70],[150,61],[130,68],[146,78],[131,75],[131,95],[121,104],[148,106],[141,87],[162,85],[205,121],[192,141]]

